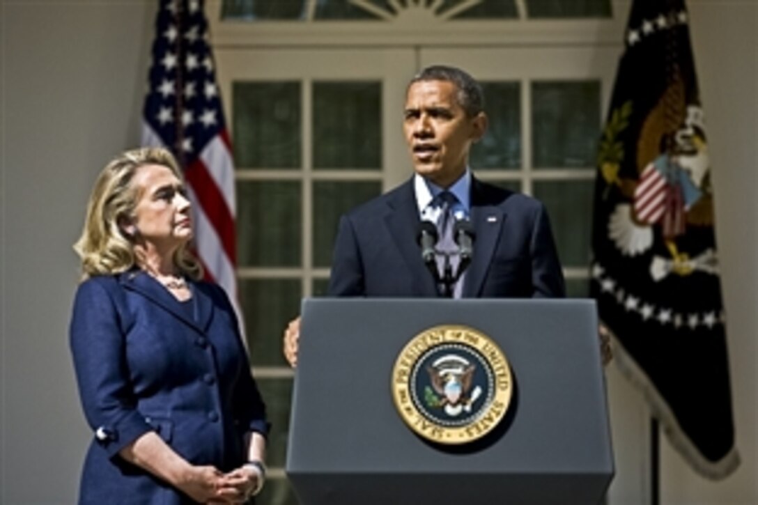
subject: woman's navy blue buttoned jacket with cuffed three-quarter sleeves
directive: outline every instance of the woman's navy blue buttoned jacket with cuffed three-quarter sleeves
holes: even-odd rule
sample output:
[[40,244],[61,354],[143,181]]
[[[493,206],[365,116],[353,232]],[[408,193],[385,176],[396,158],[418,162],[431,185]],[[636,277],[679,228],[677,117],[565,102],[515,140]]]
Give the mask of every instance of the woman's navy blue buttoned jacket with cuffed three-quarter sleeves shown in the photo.
[[222,471],[246,461],[246,432],[268,431],[226,294],[190,285],[183,306],[143,271],[80,284],[70,347],[94,435],[80,503],[193,503],[118,455],[147,431],[190,463]]

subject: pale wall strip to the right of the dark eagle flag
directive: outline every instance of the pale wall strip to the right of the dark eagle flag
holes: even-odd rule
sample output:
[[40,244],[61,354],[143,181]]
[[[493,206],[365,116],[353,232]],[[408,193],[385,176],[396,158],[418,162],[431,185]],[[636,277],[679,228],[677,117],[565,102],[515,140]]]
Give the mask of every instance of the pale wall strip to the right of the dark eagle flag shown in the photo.
[[[727,311],[732,399],[742,465],[722,482],[698,478],[662,444],[661,503],[758,503],[756,334],[758,334],[758,5],[694,0],[695,64],[700,77],[716,188],[716,236]],[[696,380],[708,380],[708,371]]]

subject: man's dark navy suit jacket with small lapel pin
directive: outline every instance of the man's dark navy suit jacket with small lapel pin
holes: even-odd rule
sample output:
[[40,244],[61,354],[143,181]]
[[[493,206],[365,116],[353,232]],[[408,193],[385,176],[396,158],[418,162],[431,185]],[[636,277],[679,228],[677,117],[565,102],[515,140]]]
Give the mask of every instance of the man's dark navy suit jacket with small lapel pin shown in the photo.
[[[474,255],[466,298],[565,296],[544,206],[471,178]],[[334,245],[330,296],[439,296],[418,246],[413,178],[344,215]]]

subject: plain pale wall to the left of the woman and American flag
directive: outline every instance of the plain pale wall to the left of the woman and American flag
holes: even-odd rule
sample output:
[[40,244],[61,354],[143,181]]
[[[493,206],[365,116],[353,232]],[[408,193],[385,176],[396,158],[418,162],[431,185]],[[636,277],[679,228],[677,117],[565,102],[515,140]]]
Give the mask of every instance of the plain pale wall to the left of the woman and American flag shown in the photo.
[[89,430],[67,344],[84,205],[139,141],[154,2],[6,2],[2,12],[0,503],[75,503]]

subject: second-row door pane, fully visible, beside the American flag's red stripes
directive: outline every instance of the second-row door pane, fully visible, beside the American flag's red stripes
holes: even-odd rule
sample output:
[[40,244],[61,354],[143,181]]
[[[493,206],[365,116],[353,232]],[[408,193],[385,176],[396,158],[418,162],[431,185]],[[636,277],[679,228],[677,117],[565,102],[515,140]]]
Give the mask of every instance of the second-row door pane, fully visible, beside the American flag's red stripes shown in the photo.
[[237,183],[237,254],[240,266],[300,266],[300,183]]

